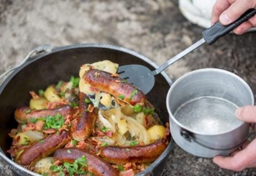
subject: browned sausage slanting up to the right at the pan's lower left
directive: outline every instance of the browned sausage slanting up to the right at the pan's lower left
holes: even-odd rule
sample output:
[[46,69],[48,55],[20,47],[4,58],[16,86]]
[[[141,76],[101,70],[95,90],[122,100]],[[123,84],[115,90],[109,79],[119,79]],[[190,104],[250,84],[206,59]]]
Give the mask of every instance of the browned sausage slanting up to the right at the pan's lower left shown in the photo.
[[66,130],[63,130],[59,135],[50,135],[44,139],[44,142],[37,142],[26,148],[18,158],[18,163],[20,165],[35,164],[41,158],[47,157],[58,148],[63,147],[68,143],[68,140],[70,140],[70,136]]

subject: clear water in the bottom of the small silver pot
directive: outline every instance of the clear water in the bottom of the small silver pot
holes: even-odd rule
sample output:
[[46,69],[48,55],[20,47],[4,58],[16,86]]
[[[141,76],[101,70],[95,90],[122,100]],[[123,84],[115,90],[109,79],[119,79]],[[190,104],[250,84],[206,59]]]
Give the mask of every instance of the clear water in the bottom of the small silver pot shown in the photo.
[[201,96],[179,106],[174,117],[193,132],[213,135],[228,132],[243,123],[235,116],[237,108],[223,98]]

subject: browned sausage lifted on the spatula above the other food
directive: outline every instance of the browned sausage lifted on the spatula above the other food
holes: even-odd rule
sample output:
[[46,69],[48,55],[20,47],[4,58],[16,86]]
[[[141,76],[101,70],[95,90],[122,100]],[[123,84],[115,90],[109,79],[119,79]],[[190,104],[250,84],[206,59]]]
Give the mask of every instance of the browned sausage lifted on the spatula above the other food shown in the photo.
[[83,79],[89,85],[98,88],[100,91],[110,93],[115,98],[118,98],[119,95],[124,95],[125,98],[122,101],[125,101],[125,103],[144,105],[146,100],[146,96],[141,90],[106,71],[89,70],[85,73]]

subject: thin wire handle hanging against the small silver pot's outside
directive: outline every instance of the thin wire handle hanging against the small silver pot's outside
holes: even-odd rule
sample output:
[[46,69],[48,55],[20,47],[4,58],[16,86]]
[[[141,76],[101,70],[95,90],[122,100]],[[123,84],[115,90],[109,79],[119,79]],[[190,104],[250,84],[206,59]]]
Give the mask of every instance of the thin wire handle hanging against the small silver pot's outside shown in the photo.
[[253,127],[250,126],[250,131],[247,135],[247,137],[241,142],[239,143],[238,145],[235,145],[234,147],[230,147],[230,148],[213,148],[213,147],[209,147],[201,142],[199,142],[198,140],[196,140],[196,138],[194,137],[194,135],[190,132],[188,132],[187,130],[183,130],[181,129],[181,132],[180,132],[181,136],[188,142],[195,142],[197,143],[198,145],[201,145],[202,147],[205,147],[205,148],[208,148],[208,149],[211,149],[211,150],[232,150],[233,148],[238,148],[238,147],[241,147],[243,145],[243,143],[248,139],[250,138],[254,133],[254,130],[253,130]]

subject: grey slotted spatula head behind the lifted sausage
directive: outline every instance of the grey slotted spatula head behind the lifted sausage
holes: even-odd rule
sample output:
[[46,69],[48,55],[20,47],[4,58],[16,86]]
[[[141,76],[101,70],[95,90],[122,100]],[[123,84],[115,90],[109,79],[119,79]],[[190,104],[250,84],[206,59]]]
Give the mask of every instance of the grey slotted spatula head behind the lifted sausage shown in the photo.
[[151,70],[142,65],[119,66],[117,73],[120,78],[126,80],[147,94],[154,86],[155,78]]

